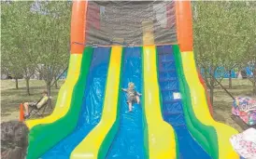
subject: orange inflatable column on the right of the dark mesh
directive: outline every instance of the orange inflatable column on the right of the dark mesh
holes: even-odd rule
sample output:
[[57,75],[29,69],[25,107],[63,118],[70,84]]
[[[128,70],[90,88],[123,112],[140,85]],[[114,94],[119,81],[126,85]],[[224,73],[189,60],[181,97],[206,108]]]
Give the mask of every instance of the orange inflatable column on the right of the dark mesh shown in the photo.
[[177,38],[180,52],[192,51],[191,1],[176,1]]

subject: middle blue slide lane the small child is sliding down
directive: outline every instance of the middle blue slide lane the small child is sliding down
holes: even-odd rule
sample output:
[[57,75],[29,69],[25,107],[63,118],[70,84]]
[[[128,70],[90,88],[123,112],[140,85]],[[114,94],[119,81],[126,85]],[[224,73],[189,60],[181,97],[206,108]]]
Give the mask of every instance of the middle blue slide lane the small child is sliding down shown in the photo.
[[[124,47],[124,60],[121,87],[127,88],[129,82],[135,89],[142,90],[141,47]],[[144,159],[143,126],[141,104],[134,104],[133,112],[128,112],[124,92],[121,93],[120,127],[107,153],[107,159]],[[143,95],[142,95],[143,96]]]

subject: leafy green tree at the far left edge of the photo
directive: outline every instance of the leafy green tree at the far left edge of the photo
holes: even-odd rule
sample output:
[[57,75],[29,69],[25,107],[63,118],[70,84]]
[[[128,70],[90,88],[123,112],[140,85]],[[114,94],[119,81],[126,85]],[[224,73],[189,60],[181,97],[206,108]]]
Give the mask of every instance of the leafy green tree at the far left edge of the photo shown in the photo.
[[14,74],[16,88],[18,76],[23,75],[27,81],[29,94],[29,79],[35,71],[36,55],[33,48],[33,14],[30,12],[32,2],[12,2],[1,5],[2,19],[2,64],[7,71]]

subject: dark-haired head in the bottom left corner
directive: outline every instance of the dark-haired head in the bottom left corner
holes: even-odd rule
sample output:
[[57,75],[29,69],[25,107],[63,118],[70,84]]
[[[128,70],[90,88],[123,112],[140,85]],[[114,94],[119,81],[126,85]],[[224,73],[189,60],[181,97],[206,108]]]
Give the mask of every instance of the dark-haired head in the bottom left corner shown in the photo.
[[28,127],[19,121],[1,124],[2,159],[24,159],[28,147]]

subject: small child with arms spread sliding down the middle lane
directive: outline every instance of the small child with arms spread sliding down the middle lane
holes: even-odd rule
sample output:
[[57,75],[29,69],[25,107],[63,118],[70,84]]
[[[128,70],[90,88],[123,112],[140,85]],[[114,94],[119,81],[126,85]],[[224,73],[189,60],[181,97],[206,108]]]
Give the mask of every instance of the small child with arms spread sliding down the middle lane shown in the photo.
[[133,111],[133,103],[139,104],[139,96],[141,96],[140,93],[135,91],[135,84],[132,82],[129,82],[128,88],[121,88],[122,91],[126,92],[127,95],[127,103],[129,105],[129,112]]

